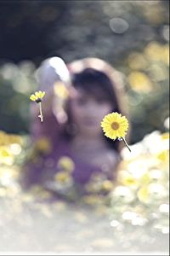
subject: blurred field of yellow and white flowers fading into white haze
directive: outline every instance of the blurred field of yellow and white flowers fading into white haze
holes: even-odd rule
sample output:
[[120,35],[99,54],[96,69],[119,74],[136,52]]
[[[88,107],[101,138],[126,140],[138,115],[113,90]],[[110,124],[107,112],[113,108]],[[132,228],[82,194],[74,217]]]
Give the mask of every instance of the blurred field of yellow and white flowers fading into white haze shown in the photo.
[[[41,187],[22,191],[18,181],[28,143],[28,137],[0,131],[0,251],[168,252],[168,133],[146,135],[131,145],[132,152],[123,148],[116,183],[94,177],[89,195],[72,204],[47,203],[50,195]],[[65,172],[56,183],[68,181],[72,165],[59,161]]]

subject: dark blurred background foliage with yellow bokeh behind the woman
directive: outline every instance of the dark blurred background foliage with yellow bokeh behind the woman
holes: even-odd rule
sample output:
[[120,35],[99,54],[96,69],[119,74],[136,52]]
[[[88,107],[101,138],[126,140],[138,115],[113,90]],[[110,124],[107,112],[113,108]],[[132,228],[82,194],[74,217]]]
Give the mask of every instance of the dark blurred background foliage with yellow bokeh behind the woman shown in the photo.
[[[26,134],[33,73],[52,55],[93,56],[122,73],[136,143],[165,131],[169,1],[1,1],[0,130]],[[17,103],[16,103],[17,102]]]

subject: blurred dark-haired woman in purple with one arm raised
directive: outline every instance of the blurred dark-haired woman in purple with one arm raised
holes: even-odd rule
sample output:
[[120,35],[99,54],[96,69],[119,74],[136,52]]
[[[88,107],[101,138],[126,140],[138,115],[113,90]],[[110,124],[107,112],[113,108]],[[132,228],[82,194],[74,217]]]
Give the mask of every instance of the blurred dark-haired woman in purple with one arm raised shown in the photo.
[[[96,58],[71,62],[70,83],[65,65],[59,74],[59,60],[54,74],[47,73],[43,65],[39,69],[40,88],[46,91],[44,121],[41,124],[32,111],[31,135],[37,146],[26,166],[25,185],[39,183],[60,194],[77,187],[83,194],[95,176],[104,180],[116,178],[119,142],[104,136],[100,122],[107,113],[124,114],[122,83],[115,69]],[[49,80],[51,83],[44,83]]]

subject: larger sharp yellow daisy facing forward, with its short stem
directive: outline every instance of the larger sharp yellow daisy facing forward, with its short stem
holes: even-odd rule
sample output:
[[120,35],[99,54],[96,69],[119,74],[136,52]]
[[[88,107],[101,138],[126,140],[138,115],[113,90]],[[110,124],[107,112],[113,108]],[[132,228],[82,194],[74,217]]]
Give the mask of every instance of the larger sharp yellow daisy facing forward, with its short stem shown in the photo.
[[123,140],[127,148],[130,150],[124,138],[128,129],[128,121],[125,116],[122,116],[121,113],[117,112],[109,113],[105,115],[102,120],[101,127],[106,137],[109,137],[112,140],[116,140],[116,138]]

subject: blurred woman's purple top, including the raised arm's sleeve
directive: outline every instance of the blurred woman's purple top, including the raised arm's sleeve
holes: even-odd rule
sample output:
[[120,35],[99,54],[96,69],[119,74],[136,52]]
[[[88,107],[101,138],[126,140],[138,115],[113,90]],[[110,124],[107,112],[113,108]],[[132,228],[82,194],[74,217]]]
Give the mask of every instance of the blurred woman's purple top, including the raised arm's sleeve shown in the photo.
[[[37,107],[36,107],[37,108]],[[74,162],[74,170],[71,176],[74,182],[80,185],[88,183],[92,173],[103,173],[104,171],[99,166],[89,164],[85,160],[81,160],[77,157],[71,148],[70,143],[66,141],[62,136],[62,131],[65,125],[59,125],[54,114],[44,116],[44,122],[41,123],[39,119],[34,119],[31,124],[31,140],[33,150],[33,157],[29,160],[29,163],[25,166],[26,177],[23,183],[26,187],[30,187],[35,183],[43,183],[48,178],[54,179],[54,174],[59,172],[57,165],[60,158],[67,156]],[[48,139],[51,143],[50,152],[44,152],[42,148],[37,148],[38,140],[42,137]],[[35,155],[34,155],[35,154]],[[114,153],[113,153],[114,154]],[[35,160],[36,156],[36,160]],[[106,178],[112,178],[113,173],[108,172]]]

